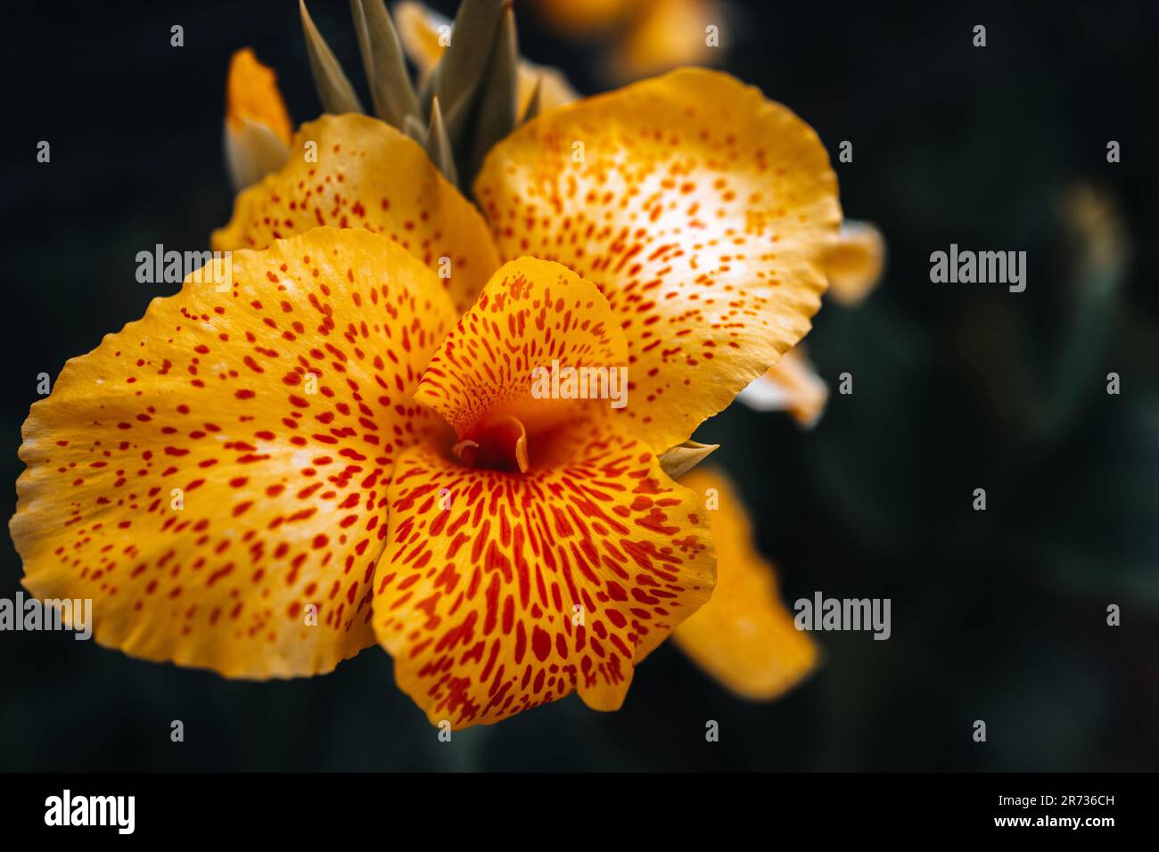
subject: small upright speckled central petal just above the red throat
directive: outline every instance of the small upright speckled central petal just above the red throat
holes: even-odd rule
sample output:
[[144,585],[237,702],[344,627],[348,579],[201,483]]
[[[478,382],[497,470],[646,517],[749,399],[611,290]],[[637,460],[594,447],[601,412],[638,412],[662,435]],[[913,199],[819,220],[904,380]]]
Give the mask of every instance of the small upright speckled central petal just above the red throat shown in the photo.
[[586,380],[575,387],[591,396],[622,387],[626,363],[624,333],[596,285],[559,263],[520,257],[491,276],[436,350],[415,399],[442,414],[460,440],[478,440],[509,417],[533,435],[575,416],[581,406],[612,402],[545,395],[554,389],[553,372],[573,369],[595,378],[595,388]]

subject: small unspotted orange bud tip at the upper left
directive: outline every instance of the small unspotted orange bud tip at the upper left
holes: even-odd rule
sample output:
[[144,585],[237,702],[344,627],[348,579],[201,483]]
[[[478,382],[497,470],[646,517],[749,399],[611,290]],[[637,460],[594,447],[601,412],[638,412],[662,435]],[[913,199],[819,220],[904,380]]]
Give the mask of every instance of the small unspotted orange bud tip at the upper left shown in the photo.
[[249,48],[239,50],[229,60],[225,111],[225,154],[234,189],[282,168],[291,133],[274,71],[257,61]]

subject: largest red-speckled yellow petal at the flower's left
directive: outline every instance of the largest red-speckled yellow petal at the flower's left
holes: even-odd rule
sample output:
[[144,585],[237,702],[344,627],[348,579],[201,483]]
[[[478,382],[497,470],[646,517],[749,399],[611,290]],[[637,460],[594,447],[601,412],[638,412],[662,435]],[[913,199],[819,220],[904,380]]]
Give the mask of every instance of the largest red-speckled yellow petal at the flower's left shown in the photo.
[[425,267],[365,232],[206,269],[32,406],[12,520],[23,583],[92,598],[97,641],[132,656],[329,671],[374,641],[385,480],[443,428],[409,393],[453,311]]

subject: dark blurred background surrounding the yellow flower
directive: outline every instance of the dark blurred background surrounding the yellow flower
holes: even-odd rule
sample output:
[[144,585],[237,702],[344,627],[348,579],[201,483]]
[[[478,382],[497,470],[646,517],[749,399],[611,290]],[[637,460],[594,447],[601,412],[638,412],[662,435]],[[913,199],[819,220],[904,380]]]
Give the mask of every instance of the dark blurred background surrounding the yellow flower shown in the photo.
[[[607,88],[603,45],[527,6],[524,53]],[[834,160],[854,143],[834,165],[841,202],[884,232],[889,267],[866,305],[817,318],[810,354],[834,391],[851,372],[854,394],[834,393],[814,431],[734,406],[698,437],[723,444],[783,597],[890,597],[889,641],[819,634],[824,667],[770,705],[730,697],[669,643],[619,713],[573,697],[440,744],[378,648],[325,677],[233,683],[5,633],[0,769],[1159,769],[1157,16],[946,6],[734,3],[722,28],[723,67],[792,107]],[[365,94],[347,5],[311,8]],[[37,373],[176,289],[138,284],[137,252],[206,247],[227,220],[231,52],[252,45],[277,68],[294,124],[319,104],[291,0],[3,14],[0,481],[14,483]],[[184,48],[169,46],[174,23]],[[1084,261],[1063,203],[1077,185],[1117,211],[1123,264]],[[1027,291],[931,284],[930,253],[950,242],[1027,250]],[[0,488],[0,515],[14,504]],[[0,596],[20,576],[6,540]]]

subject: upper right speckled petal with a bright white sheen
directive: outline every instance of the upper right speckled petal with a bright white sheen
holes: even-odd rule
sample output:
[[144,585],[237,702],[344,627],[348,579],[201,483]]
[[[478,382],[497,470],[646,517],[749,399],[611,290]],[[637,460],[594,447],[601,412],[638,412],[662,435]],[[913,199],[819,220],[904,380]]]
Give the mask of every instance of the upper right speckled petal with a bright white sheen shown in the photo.
[[475,182],[505,257],[595,282],[628,338],[624,409],[657,452],[809,330],[840,221],[816,133],[727,74],[688,68],[562,107]]

